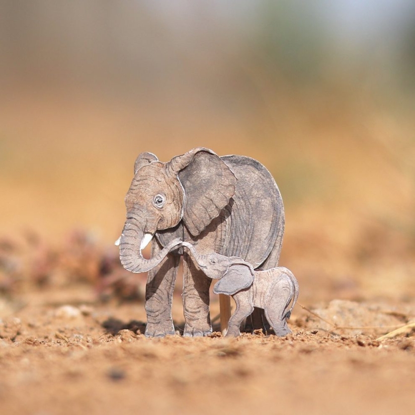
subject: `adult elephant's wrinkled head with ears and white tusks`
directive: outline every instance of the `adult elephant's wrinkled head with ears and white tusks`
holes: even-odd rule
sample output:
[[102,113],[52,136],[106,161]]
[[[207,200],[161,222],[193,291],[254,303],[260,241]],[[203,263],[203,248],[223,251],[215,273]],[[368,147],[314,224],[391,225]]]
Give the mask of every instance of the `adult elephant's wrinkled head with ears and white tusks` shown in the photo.
[[197,236],[217,217],[235,193],[236,178],[213,151],[194,148],[167,163],[141,153],[125,197],[127,219],[116,244],[125,269],[148,268],[141,250],[156,231],[174,228],[183,220]]

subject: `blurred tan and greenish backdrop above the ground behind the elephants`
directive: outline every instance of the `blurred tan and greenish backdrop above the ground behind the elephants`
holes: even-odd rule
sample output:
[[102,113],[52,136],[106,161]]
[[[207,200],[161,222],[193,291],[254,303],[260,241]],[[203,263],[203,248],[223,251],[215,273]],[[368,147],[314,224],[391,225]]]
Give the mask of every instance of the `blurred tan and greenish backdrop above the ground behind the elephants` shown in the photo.
[[116,256],[136,156],[205,146],[273,174],[303,302],[413,298],[414,115],[410,0],[2,0],[0,234]]

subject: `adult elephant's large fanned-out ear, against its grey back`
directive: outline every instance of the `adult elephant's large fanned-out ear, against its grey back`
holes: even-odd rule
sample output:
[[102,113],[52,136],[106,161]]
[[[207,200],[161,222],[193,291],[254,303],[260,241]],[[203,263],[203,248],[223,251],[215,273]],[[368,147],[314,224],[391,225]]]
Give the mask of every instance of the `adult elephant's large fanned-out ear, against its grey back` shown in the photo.
[[217,154],[202,147],[174,157],[168,170],[178,175],[185,190],[183,221],[196,236],[229,203],[237,179]]

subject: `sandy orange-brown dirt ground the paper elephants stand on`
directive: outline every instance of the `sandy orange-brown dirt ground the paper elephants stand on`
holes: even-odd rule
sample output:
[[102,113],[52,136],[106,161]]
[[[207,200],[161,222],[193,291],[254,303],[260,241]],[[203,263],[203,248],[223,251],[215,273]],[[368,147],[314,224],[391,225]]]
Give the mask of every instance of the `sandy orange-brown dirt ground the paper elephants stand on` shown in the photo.
[[[321,300],[309,292],[290,319],[292,335],[261,331],[236,339],[219,333],[212,296],[217,331],[189,339],[180,334],[178,282],[177,335],[146,339],[145,276],[131,277],[116,249],[86,234],[65,243],[51,248],[28,234],[24,242],[0,244],[0,413],[395,414],[413,408],[413,296]],[[350,287],[337,294],[350,297]]]

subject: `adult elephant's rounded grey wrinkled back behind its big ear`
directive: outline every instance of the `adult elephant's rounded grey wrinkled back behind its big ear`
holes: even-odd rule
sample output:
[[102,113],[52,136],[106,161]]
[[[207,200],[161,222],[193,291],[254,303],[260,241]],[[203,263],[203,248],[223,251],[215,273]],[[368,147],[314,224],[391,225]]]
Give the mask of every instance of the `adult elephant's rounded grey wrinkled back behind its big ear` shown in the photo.
[[221,158],[238,179],[235,195],[225,208],[228,215],[221,254],[243,258],[258,268],[273,249],[281,248],[284,207],[280,191],[259,161],[239,155]]

